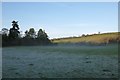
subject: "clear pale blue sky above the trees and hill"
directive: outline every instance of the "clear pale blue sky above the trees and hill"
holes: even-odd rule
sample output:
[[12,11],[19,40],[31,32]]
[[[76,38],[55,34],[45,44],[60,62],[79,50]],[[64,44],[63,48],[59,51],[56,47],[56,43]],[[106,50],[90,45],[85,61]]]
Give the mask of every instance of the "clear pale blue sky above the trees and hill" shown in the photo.
[[3,2],[2,27],[44,29],[50,38],[118,31],[117,2]]

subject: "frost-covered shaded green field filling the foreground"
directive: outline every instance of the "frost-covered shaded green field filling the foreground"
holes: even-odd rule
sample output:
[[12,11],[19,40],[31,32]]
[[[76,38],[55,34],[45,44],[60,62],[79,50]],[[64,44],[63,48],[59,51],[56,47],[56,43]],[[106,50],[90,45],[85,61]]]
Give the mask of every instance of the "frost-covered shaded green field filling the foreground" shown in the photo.
[[117,45],[3,48],[3,78],[117,78]]

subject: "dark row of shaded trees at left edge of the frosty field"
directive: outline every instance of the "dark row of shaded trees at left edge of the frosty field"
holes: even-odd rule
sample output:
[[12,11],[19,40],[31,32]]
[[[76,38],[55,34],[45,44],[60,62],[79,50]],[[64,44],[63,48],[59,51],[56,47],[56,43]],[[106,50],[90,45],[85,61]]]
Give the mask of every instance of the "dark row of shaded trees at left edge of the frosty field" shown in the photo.
[[12,21],[12,28],[2,28],[2,46],[31,46],[49,45],[51,41],[45,30],[39,29],[36,33],[34,28],[26,30],[24,36],[19,31],[18,22]]

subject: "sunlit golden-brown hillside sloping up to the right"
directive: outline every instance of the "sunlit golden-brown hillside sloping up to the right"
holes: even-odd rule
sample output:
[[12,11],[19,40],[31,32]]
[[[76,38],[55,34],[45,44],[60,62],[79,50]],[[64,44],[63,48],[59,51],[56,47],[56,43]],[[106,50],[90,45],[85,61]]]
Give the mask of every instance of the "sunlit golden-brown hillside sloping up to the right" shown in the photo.
[[53,43],[117,43],[120,42],[120,32],[102,33],[102,34],[91,34],[82,35],[80,37],[66,37],[52,39]]

